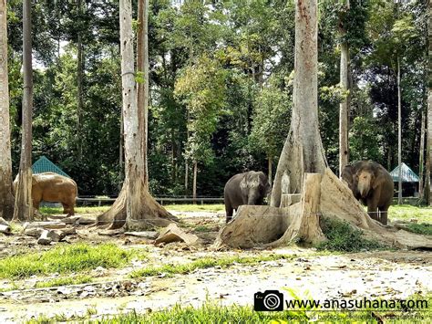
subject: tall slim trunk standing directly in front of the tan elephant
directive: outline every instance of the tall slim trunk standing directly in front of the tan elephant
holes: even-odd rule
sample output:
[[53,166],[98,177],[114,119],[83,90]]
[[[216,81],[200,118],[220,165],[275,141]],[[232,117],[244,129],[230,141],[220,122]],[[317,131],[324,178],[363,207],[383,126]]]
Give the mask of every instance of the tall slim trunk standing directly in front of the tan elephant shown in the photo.
[[32,208],[32,110],[33,110],[33,70],[32,70],[32,5],[23,1],[23,130],[21,158],[19,162],[18,185],[15,193],[13,220],[33,219]]

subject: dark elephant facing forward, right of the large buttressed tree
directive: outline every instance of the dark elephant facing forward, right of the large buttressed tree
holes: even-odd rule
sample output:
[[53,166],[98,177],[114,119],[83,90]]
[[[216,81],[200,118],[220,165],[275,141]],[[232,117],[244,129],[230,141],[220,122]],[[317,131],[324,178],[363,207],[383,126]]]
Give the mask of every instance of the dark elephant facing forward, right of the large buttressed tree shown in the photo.
[[387,225],[387,211],[394,192],[390,173],[377,162],[359,161],[345,165],[341,178],[355,198],[367,206],[367,214]]

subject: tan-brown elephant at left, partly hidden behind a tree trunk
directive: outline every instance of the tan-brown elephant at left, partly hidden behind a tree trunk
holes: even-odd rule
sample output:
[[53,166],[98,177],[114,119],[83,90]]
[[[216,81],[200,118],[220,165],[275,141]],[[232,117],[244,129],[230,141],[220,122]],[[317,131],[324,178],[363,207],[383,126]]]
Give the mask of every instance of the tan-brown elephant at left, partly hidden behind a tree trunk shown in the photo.
[[[18,175],[14,181],[14,193]],[[42,172],[32,175],[32,200],[34,212],[39,211],[39,204],[45,202],[57,202],[63,205],[63,214],[75,214],[75,200],[77,198],[77,183],[66,176],[55,172]]]

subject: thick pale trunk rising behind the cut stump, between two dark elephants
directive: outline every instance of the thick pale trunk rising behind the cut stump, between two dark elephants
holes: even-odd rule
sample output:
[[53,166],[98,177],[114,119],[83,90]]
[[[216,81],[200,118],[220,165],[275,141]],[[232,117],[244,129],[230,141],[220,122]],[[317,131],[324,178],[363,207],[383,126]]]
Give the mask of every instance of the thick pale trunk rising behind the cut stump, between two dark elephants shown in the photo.
[[318,125],[316,10],[316,0],[295,0],[293,116],[273,183],[275,207],[281,204],[284,171],[290,177],[290,192],[300,193],[304,172],[323,173],[326,166]]

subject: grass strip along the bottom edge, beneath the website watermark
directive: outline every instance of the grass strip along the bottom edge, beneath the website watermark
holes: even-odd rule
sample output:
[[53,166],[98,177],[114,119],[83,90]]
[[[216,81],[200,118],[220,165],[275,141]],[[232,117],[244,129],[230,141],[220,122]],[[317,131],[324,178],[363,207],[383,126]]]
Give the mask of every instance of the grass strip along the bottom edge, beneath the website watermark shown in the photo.
[[[432,295],[426,297],[411,296],[412,300],[427,300],[427,306],[432,305]],[[139,314],[132,311],[114,317],[87,320],[87,323],[113,324],[113,323],[271,323],[285,324],[290,322],[316,321],[322,323],[376,323],[391,321],[392,323],[427,323],[432,320],[429,308],[419,309],[399,308],[365,308],[359,311],[334,310],[320,311],[317,308],[299,308],[298,310],[284,310],[275,312],[257,312],[251,306],[222,306],[218,302],[206,301],[200,308],[181,306],[162,309],[159,311]],[[87,311],[87,319],[95,312]],[[82,317],[82,319],[86,319]],[[54,319],[44,317],[32,319],[27,323],[54,323],[57,320],[67,320],[65,316]]]

